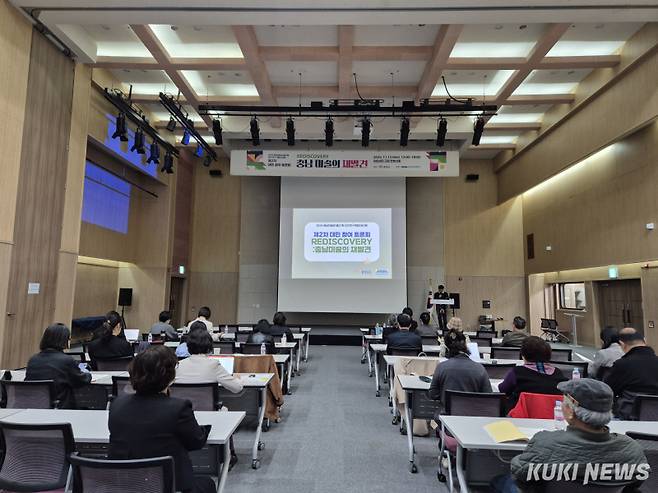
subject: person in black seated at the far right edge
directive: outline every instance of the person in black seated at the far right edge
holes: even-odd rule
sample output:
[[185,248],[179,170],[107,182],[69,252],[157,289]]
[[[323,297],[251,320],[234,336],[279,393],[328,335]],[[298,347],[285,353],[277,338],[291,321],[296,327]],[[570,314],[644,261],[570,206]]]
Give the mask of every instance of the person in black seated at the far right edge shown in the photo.
[[636,394],[658,395],[658,356],[647,346],[644,336],[633,328],[619,331],[624,356],[612,365],[605,377],[617,399],[616,414],[629,419]]

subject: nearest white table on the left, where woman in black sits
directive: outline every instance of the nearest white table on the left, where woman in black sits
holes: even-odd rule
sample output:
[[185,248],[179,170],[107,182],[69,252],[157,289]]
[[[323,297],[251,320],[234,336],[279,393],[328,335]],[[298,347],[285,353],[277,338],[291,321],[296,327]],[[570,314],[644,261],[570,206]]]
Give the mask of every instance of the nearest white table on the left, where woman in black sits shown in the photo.
[[[17,424],[59,424],[70,423],[73,437],[78,443],[108,443],[110,431],[108,429],[108,411],[83,411],[71,409],[7,409],[15,411],[13,414],[2,416],[0,419],[6,423]],[[211,425],[207,444],[210,446],[226,445],[224,447],[223,462],[217,464],[219,482],[217,491],[221,493],[226,484],[229,462],[231,460],[229,439],[235,433],[245,413],[195,411],[194,415],[200,425]],[[220,458],[219,454],[217,455]]]

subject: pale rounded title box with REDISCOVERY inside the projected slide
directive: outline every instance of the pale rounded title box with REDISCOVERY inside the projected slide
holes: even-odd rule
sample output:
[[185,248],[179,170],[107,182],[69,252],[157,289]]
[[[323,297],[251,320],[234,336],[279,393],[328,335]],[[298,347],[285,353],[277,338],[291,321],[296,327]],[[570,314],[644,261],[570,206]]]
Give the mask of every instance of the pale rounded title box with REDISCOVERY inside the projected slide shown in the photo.
[[307,262],[379,260],[379,225],[372,222],[313,222],[304,226]]

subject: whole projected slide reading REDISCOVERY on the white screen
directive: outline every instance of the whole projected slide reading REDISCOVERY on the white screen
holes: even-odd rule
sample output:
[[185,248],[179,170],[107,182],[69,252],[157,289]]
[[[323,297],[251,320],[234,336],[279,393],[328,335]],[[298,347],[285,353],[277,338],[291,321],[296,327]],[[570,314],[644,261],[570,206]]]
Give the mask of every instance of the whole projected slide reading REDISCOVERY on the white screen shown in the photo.
[[294,209],[293,279],[391,279],[391,209]]

